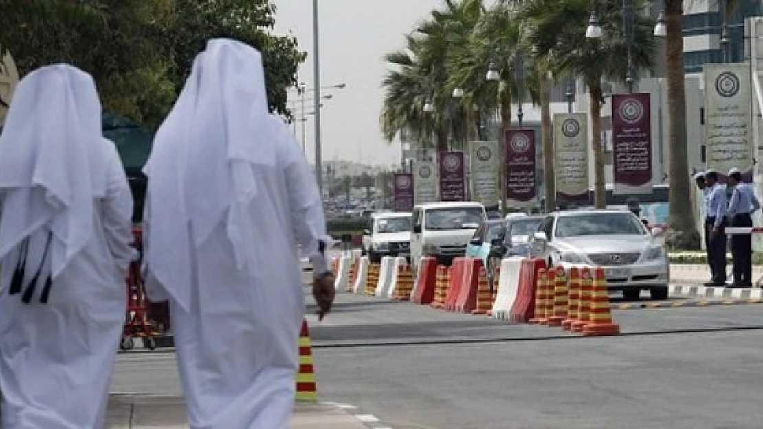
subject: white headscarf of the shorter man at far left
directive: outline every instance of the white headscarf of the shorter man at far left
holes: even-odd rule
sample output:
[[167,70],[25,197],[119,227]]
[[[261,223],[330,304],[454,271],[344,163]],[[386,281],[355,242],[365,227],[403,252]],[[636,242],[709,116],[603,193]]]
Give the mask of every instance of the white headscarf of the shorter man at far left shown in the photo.
[[105,144],[89,74],[58,64],[19,82],[0,135],[0,258],[44,227],[53,233],[52,277],[63,271],[93,235]]

